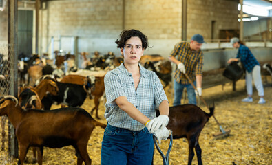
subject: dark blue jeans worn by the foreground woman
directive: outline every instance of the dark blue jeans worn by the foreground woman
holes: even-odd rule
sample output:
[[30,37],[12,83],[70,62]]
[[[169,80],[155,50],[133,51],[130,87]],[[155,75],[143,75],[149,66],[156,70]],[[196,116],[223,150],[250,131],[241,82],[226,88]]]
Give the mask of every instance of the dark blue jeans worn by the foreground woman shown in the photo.
[[141,131],[129,131],[107,124],[102,141],[101,165],[150,165],[153,153],[153,135],[146,127]]

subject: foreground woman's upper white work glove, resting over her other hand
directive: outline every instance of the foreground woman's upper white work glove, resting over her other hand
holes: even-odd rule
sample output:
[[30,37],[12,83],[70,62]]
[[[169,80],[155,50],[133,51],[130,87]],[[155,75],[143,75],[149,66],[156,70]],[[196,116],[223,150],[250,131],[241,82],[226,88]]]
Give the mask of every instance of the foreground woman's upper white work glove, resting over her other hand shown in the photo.
[[157,131],[160,126],[165,127],[167,126],[169,122],[169,118],[167,115],[159,115],[158,117],[149,120],[145,126],[147,126],[147,129],[150,133],[154,133],[155,131]]

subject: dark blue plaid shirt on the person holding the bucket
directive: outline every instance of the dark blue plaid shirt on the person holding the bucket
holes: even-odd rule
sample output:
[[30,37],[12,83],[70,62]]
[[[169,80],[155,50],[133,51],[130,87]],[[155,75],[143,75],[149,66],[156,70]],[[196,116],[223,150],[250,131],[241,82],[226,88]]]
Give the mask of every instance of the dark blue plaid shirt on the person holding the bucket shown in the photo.
[[249,50],[249,47],[242,44],[240,44],[236,58],[240,58],[242,65],[244,65],[244,68],[249,73],[253,70],[255,65],[260,65]]

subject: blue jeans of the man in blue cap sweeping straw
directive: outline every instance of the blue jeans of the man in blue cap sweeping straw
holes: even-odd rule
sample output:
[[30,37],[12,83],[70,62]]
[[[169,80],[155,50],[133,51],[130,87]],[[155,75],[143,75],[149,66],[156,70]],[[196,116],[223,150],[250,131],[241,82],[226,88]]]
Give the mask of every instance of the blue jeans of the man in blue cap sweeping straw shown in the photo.
[[[196,81],[193,82],[193,85],[195,85],[195,87],[196,87]],[[187,89],[189,104],[195,104],[196,105],[196,93],[195,93],[195,89],[193,89],[193,86],[191,84],[182,85],[182,84],[176,82],[176,80],[174,80],[174,102],[173,102],[173,106],[181,104],[180,100],[181,100],[182,92],[183,92],[184,88]]]

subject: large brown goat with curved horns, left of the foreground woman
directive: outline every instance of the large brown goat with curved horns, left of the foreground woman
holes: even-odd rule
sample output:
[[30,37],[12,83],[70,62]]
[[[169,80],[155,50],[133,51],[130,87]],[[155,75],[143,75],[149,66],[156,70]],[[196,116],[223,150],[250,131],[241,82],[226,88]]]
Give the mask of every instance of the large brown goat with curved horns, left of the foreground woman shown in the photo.
[[0,98],[0,115],[8,118],[16,129],[19,142],[19,161],[23,164],[30,146],[38,147],[38,164],[42,164],[43,146],[61,148],[72,145],[76,149],[77,164],[92,164],[87,143],[95,126],[105,129],[84,109],[67,107],[51,111],[30,109],[24,111],[14,96]]

